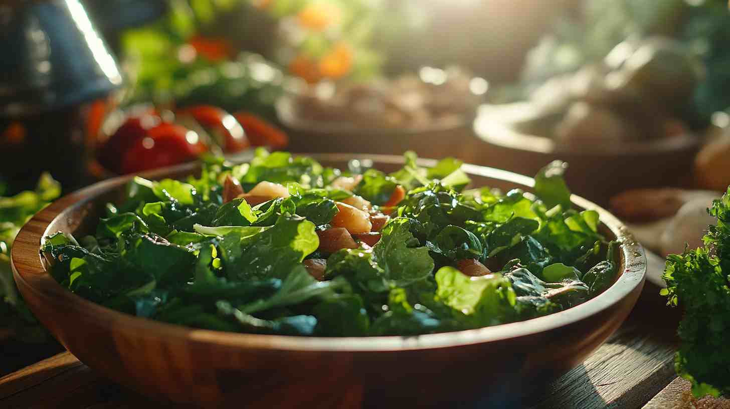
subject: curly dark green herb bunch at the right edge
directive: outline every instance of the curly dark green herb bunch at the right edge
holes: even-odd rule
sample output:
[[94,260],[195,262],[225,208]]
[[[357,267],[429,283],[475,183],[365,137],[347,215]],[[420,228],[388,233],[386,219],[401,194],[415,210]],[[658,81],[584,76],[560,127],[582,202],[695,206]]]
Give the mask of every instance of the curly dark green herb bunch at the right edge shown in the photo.
[[730,394],[730,188],[709,213],[717,223],[704,245],[667,256],[661,291],[669,305],[684,309],[675,368],[696,397]]

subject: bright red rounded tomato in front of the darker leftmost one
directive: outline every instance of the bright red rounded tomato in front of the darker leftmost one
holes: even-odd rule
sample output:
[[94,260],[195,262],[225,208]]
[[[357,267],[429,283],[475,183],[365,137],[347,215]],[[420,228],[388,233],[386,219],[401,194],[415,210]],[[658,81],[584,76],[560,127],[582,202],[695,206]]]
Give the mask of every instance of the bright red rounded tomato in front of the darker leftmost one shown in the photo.
[[123,172],[134,173],[191,161],[206,150],[195,132],[174,123],[161,123],[120,156]]

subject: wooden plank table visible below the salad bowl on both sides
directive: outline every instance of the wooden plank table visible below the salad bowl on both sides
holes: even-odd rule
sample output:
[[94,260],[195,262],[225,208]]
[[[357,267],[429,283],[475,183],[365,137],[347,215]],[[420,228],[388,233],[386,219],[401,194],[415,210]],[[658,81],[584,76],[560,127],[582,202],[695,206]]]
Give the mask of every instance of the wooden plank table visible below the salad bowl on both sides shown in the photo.
[[[593,355],[520,405],[533,409],[729,408],[728,400],[694,400],[674,372],[678,310],[647,283],[626,320]],[[0,408],[180,408],[153,402],[105,380],[68,352],[0,378]],[[488,400],[459,407],[491,408]],[[504,407],[501,403],[499,407]]]

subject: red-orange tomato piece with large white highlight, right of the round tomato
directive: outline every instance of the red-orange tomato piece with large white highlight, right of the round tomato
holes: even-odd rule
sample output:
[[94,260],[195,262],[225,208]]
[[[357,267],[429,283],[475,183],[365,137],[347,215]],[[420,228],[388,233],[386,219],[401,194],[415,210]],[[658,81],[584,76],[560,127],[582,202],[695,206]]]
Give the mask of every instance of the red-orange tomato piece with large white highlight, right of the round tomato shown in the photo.
[[183,115],[191,115],[226,152],[238,152],[250,147],[241,124],[233,115],[218,107],[196,105],[183,108],[178,112]]

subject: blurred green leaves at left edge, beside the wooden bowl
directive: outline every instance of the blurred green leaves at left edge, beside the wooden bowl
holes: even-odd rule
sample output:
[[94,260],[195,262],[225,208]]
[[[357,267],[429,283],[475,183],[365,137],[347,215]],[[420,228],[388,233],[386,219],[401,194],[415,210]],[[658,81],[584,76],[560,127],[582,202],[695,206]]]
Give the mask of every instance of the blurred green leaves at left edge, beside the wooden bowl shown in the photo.
[[10,248],[20,227],[61,195],[61,185],[46,173],[33,191],[2,196],[3,190],[0,186],[0,329],[12,331],[15,337],[26,342],[42,342],[47,332],[20,298],[12,279]]

